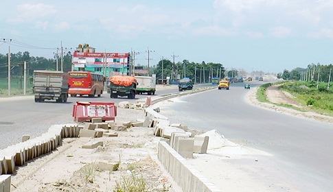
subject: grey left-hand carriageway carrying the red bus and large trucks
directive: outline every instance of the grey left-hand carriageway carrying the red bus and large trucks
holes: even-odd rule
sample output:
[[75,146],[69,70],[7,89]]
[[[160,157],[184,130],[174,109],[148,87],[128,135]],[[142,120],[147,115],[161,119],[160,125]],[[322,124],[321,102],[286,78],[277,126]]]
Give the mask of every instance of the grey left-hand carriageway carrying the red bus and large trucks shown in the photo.
[[[196,84],[194,89],[203,86],[211,86],[211,84]],[[176,85],[157,86],[157,96],[170,93],[179,93],[178,87]],[[0,97],[0,149],[19,143],[23,134],[34,138],[47,132],[51,125],[74,123],[71,113],[76,101],[112,101],[117,106],[119,102],[136,102],[147,96],[143,94],[136,95],[135,99],[127,99],[127,97],[111,99],[110,95],[104,92],[101,97],[69,97],[67,103],[56,103],[55,100],[35,103],[34,96]]]

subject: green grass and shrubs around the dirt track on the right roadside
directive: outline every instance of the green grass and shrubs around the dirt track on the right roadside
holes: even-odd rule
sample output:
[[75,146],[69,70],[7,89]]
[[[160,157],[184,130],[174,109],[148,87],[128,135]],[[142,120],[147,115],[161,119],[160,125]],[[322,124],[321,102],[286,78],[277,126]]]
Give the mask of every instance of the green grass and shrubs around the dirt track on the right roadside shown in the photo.
[[[327,82],[303,82],[303,81],[286,81],[275,84],[281,84],[279,88],[287,91],[295,97],[295,101],[304,108],[308,108],[321,115],[333,116],[333,87],[328,88]],[[266,98],[266,88],[273,84],[263,84],[257,91],[257,99],[262,102],[268,102]],[[291,105],[280,104],[288,108],[303,110]]]

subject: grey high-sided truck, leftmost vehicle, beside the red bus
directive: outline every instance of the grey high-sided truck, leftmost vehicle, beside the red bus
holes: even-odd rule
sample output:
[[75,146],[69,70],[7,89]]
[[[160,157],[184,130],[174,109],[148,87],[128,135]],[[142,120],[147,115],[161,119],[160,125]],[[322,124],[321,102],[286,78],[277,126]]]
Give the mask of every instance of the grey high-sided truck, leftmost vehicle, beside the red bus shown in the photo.
[[67,102],[68,73],[63,71],[34,70],[33,92],[35,102],[55,99],[56,102]]

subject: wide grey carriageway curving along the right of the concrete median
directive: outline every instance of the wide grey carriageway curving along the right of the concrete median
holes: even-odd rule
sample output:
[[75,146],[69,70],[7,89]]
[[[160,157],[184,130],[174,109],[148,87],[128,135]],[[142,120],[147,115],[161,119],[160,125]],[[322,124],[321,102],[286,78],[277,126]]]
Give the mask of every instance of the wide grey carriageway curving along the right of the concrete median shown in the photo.
[[[257,85],[251,84],[252,88]],[[162,106],[160,113],[172,123],[218,130],[233,143],[271,154],[267,161],[274,167],[265,171],[276,175],[263,179],[281,188],[272,186],[270,191],[332,191],[333,124],[253,106],[244,99],[247,91],[239,83],[231,84],[229,91],[216,88],[187,95],[181,102]],[[260,179],[262,170],[243,169],[257,172]]]

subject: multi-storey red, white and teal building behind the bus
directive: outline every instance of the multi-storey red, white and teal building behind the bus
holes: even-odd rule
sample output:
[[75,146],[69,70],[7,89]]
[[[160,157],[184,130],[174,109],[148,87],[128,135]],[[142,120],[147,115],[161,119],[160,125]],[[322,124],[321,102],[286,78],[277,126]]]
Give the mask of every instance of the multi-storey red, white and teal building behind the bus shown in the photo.
[[73,52],[72,71],[91,71],[106,77],[133,75],[130,53],[97,53],[88,44],[78,45]]

